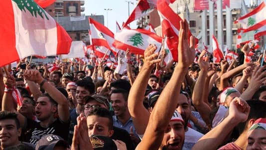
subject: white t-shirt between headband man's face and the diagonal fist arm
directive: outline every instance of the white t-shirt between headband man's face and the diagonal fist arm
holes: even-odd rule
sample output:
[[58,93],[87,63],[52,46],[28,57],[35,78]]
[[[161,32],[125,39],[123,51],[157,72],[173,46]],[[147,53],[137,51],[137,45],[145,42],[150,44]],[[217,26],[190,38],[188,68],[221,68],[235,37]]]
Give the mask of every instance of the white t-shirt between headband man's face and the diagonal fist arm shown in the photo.
[[203,136],[202,133],[188,127],[188,131],[185,132],[185,141],[182,150],[190,150],[194,144]]

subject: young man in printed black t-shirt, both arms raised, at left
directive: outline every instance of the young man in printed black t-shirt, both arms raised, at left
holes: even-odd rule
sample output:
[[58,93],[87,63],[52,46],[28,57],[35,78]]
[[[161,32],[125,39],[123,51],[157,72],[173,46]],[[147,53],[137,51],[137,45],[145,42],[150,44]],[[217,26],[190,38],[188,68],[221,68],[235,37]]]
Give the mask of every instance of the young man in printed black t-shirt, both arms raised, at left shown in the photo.
[[[23,75],[27,80],[38,83],[47,92],[39,96],[36,101],[35,114],[40,122],[35,122],[34,124],[30,137],[30,143],[35,144],[41,136],[50,133],[67,139],[67,130],[69,127],[69,107],[66,97],[54,86],[43,79],[38,70],[25,70]],[[13,106],[11,92],[15,80],[12,76],[8,75],[4,82],[6,85],[6,92],[3,95],[2,109],[16,112]],[[26,127],[27,119],[25,119],[22,114],[17,114],[21,127]]]

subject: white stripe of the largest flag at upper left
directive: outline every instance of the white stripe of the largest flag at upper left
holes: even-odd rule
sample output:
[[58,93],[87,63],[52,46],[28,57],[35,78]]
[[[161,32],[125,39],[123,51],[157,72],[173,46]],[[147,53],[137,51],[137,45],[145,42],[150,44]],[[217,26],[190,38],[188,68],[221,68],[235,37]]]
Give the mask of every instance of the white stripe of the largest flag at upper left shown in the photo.
[[[44,18],[36,15],[34,22],[32,22],[32,15],[27,9],[21,11],[14,1],[12,1],[12,6],[15,18],[16,49],[19,57],[24,58],[29,55],[40,55],[40,51],[36,53],[36,49],[46,49],[41,51],[43,53],[42,55],[56,55],[57,42],[55,41],[57,41],[57,28],[53,18],[45,12],[49,23],[45,23],[47,20],[44,14]],[[53,38],[45,38],[47,36]],[[34,37],[34,43],[32,42],[32,37]]]

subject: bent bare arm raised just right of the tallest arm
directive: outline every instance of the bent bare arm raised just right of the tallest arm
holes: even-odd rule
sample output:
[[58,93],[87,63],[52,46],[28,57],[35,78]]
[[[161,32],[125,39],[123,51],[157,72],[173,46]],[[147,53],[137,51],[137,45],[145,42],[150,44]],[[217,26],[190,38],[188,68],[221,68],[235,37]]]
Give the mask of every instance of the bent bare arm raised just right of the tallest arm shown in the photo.
[[[201,114],[203,120],[206,122],[206,124],[209,124],[209,116],[211,112],[211,107],[204,102],[203,99],[203,93],[204,93],[204,86],[205,86],[205,80],[208,73],[209,63],[203,60],[203,56],[207,53],[206,50],[202,51],[202,53],[199,56],[199,65],[200,65],[200,74],[198,77],[198,80],[196,81],[196,84],[194,86],[193,94],[192,94],[192,102],[194,106],[198,109],[199,113]],[[208,90],[208,89],[207,89]]]

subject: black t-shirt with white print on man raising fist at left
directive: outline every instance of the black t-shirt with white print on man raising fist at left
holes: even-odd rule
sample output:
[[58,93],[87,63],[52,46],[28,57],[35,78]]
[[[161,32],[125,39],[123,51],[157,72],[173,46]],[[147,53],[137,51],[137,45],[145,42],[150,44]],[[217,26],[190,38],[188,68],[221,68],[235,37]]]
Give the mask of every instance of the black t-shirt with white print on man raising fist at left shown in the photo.
[[38,122],[36,123],[36,126],[31,133],[29,142],[36,144],[42,136],[45,136],[47,134],[55,134],[61,136],[62,138],[64,138],[64,140],[67,141],[69,123],[70,121],[64,123],[59,118],[57,118],[52,124],[45,128],[41,127],[40,122]]

